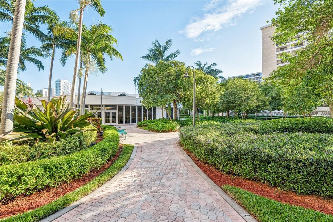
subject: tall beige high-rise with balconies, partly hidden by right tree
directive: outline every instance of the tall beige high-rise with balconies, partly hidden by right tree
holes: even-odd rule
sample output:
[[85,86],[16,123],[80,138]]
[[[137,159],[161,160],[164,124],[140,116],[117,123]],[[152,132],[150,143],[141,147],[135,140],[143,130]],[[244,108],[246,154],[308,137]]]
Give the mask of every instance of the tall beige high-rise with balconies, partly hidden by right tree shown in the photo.
[[275,28],[272,24],[265,25],[260,27],[261,29],[261,52],[262,52],[262,78],[269,77],[270,73],[273,70],[276,70],[277,67],[284,66],[287,63],[284,63],[281,60],[282,52],[285,53],[294,53],[298,49],[306,46],[306,42],[299,42],[302,34],[295,36],[295,41],[287,42],[284,45],[277,46],[271,40]]

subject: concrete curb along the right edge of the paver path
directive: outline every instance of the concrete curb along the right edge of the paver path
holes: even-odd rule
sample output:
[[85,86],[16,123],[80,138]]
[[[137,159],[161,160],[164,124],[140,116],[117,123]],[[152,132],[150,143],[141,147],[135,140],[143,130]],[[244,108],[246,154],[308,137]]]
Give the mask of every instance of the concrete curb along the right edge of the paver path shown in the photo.
[[226,194],[219,186],[217,186],[202,170],[193,162],[187,153],[179,145],[179,140],[176,142],[178,149],[185,156],[186,160],[191,164],[194,170],[204,179],[208,185],[213,188],[246,222],[256,222],[256,220],[240,205],[238,205],[228,194]]

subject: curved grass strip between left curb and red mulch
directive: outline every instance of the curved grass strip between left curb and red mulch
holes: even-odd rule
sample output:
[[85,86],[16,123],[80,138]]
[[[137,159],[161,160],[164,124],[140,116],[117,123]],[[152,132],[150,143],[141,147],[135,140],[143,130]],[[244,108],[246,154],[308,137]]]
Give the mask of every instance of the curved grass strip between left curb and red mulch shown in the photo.
[[114,177],[127,163],[130,159],[134,146],[130,144],[122,144],[123,151],[118,157],[118,159],[103,173],[95,177],[93,180],[89,181],[87,184],[77,188],[76,190],[39,207],[35,210],[31,210],[22,214],[15,216],[3,218],[1,222],[37,222],[47,216],[67,207],[73,202],[79,200],[80,198],[86,196],[90,192],[94,191],[105,182]]

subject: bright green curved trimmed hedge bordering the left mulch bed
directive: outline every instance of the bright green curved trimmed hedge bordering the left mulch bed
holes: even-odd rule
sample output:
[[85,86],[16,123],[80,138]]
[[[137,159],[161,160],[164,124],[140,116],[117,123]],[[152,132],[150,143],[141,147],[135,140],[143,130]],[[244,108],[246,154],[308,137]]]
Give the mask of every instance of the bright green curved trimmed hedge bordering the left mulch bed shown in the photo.
[[1,166],[0,200],[4,202],[78,178],[106,163],[118,146],[118,132],[112,126],[104,126],[104,139],[90,148],[65,156]]

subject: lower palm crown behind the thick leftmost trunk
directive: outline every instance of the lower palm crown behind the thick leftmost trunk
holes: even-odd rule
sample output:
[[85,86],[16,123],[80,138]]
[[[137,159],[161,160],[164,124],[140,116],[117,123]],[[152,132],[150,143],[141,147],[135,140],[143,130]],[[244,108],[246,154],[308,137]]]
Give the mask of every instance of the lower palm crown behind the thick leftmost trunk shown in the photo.
[[[0,37],[0,66],[7,66],[10,44],[11,44],[10,36]],[[41,49],[36,47],[27,48],[27,35],[22,34],[18,70],[20,71],[26,70],[27,69],[26,62],[29,62],[36,65],[38,71],[40,70],[44,71],[43,63],[40,60],[36,59],[35,58],[36,56],[45,58],[45,54]]]

